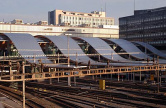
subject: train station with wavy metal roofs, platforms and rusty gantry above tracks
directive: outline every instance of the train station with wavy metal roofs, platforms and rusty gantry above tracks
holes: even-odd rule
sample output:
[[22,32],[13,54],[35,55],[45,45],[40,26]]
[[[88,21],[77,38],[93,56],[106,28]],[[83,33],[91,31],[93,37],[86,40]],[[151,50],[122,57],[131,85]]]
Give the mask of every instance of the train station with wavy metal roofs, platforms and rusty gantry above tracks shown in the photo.
[[90,88],[105,90],[108,79],[118,83],[156,81],[159,93],[166,78],[166,55],[144,42],[23,33],[0,33],[0,39],[1,82],[13,90],[21,83],[24,98],[25,89],[35,82],[67,81],[67,87],[77,87],[90,78],[99,81],[97,88],[91,83]]

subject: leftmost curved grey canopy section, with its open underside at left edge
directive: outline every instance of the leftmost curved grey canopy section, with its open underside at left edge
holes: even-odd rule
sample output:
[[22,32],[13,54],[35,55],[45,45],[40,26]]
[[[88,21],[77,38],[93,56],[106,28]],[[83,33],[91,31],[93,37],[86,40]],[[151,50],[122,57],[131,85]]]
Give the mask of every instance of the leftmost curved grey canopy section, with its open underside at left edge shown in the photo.
[[17,50],[17,54],[30,63],[38,63],[40,59],[42,59],[43,63],[51,63],[51,61],[44,56],[39,44],[30,34],[1,33],[0,35],[1,38],[6,39],[6,43],[3,43],[4,46],[6,45],[6,50],[2,47],[6,56],[8,56],[10,52]]

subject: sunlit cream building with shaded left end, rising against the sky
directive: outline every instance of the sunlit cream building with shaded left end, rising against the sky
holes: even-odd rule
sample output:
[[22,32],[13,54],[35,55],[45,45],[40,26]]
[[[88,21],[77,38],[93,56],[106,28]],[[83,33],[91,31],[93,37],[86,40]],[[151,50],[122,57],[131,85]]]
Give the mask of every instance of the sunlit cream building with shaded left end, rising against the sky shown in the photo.
[[114,18],[106,17],[105,12],[98,11],[93,11],[91,13],[81,13],[53,10],[48,12],[48,24],[62,26],[99,27],[101,25],[114,25]]

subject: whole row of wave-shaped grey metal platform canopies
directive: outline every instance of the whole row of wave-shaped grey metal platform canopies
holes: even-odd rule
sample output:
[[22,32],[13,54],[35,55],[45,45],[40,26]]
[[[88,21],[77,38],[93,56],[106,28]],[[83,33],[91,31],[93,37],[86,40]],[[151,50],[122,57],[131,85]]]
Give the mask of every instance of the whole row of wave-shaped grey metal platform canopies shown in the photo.
[[[41,38],[43,41],[41,42]],[[4,56],[19,56],[31,64],[55,64],[57,56],[63,56],[70,59],[77,65],[94,65],[94,66],[138,66],[143,64],[153,64],[152,57],[145,54],[137,46],[122,39],[107,39],[118,44],[125,52],[117,52],[109,43],[101,38],[85,38],[78,37],[87,45],[81,46],[80,43],[69,36],[32,36],[22,33],[0,33],[0,55]],[[137,42],[138,43],[138,42]],[[51,46],[52,45],[52,46]],[[146,45],[152,50],[152,46]],[[88,52],[85,52],[85,49]],[[117,47],[118,49],[118,47]],[[154,49],[154,48],[153,48]],[[51,51],[50,53],[46,53]],[[153,50],[155,55],[163,57],[157,49]],[[156,53],[155,53],[156,52]],[[160,52],[160,53],[158,53]],[[137,59],[127,58],[120,54],[133,56]],[[55,60],[49,59],[50,56],[55,56]],[[60,57],[59,57],[60,58]],[[157,57],[156,57],[157,58]],[[64,63],[65,60],[61,60]],[[159,58],[159,63],[164,64],[165,59]]]

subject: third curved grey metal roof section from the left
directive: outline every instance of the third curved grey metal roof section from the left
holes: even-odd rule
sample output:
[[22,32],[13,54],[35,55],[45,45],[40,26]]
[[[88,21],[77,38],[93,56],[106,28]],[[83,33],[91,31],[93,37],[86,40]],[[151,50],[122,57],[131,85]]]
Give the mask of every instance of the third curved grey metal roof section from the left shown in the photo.
[[116,62],[138,62],[121,57],[105,41],[100,38],[81,37],[81,39],[89,43],[100,55],[102,55],[106,59]]

